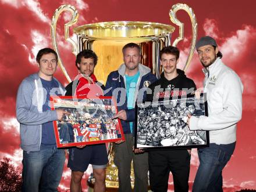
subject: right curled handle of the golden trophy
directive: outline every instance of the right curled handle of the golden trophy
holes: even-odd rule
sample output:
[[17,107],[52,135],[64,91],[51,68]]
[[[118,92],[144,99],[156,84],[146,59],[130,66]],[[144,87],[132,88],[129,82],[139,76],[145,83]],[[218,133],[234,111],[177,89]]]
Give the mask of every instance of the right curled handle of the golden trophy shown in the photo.
[[177,3],[177,4],[172,6],[172,9],[170,9],[170,12],[169,12],[170,20],[172,21],[172,23],[179,26],[179,37],[177,37],[175,39],[172,46],[176,46],[178,44],[178,42],[181,41],[184,38],[184,24],[181,23],[176,18],[176,12],[178,10],[181,10],[181,9],[185,10],[189,14],[190,20],[191,20],[191,23],[192,23],[192,42],[191,42],[191,46],[190,46],[190,53],[189,53],[189,57],[187,57],[186,64],[183,68],[183,70],[186,71],[187,68],[189,68],[190,61],[191,61],[191,59],[194,55],[195,41],[197,39],[197,19],[195,18],[195,14],[194,14],[193,9],[191,9],[186,4]]

